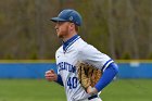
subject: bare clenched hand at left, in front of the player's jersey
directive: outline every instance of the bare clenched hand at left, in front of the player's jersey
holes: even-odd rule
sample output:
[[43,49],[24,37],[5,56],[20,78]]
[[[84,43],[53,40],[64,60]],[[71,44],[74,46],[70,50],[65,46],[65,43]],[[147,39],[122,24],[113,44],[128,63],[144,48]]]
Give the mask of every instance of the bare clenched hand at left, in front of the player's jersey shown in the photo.
[[58,75],[53,70],[47,71],[45,77],[48,81],[55,81],[58,79]]

